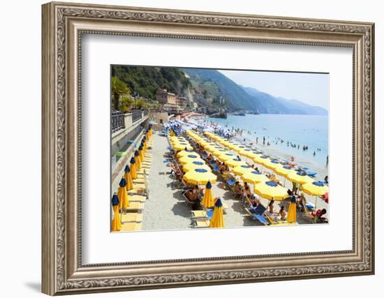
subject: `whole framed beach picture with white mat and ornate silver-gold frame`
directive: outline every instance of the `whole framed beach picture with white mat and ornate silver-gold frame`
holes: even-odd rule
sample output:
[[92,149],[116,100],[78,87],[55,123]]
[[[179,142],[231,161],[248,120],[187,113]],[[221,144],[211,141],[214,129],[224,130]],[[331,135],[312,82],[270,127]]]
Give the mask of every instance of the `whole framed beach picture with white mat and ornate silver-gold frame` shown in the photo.
[[43,5],[43,292],[374,274],[374,24]]

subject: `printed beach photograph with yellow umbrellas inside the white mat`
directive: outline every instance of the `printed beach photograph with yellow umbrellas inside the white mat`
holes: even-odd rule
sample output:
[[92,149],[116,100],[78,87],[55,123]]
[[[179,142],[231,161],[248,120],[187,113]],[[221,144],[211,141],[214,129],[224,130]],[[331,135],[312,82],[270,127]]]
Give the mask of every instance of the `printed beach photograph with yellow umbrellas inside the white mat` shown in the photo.
[[327,224],[329,74],[112,65],[110,230]]

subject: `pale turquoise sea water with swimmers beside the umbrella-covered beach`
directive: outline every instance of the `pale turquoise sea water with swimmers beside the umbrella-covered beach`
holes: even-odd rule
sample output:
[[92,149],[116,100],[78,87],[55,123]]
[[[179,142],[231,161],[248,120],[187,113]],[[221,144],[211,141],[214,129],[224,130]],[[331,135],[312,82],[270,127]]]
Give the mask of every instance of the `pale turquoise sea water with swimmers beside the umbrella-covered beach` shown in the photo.
[[[207,118],[207,121],[225,126],[230,131],[232,127],[242,129],[242,135],[239,137],[246,138],[260,149],[264,147],[263,137],[265,137],[266,150],[275,149],[283,154],[316,163],[319,167],[326,165],[328,155],[327,116],[246,114],[246,116],[228,115],[227,119]],[[258,144],[256,144],[256,137],[258,137]],[[267,142],[269,142],[269,146],[267,146]],[[288,146],[287,142],[290,142]],[[296,147],[291,147],[290,144],[296,144]],[[309,149],[303,151],[304,145]],[[315,156],[313,156],[313,151],[316,153]]]

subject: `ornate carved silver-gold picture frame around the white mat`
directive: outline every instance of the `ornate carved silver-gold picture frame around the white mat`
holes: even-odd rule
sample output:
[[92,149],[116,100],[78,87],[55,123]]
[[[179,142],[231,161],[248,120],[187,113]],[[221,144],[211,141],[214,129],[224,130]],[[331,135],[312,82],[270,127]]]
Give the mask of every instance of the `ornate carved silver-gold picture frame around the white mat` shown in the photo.
[[[374,24],[43,5],[42,268],[48,295],[374,274]],[[353,249],[82,265],[82,33],[353,49]]]

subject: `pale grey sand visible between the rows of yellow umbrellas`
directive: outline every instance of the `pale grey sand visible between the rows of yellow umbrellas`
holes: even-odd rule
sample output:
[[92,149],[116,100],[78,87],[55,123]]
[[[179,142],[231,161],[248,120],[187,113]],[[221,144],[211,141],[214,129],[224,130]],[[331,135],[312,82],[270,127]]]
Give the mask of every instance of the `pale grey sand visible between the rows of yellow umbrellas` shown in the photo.
[[[191,228],[192,207],[186,204],[181,188],[170,175],[170,165],[166,153],[170,146],[168,137],[154,133],[154,147],[152,148],[153,162],[149,174],[149,198],[145,202],[143,211],[142,230],[183,230]],[[262,149],[262,148],[260,148]],[[314,169],[313,169],[314,170]],[[271,170],[265,170],[271,172]],[[279,177],[283,181],[283,177]],[[286,187],[291,187],[290,181],[286,181]],[[239,228],[244,226],[262,225],[253,221],[251,216],[244,211],[243,203],[234,198],[234,194],[228,190],[223,180],[218,179],[212,186],[214,197],[220,197],[228,206],[224,212],[225,228]],[[307,200],[315,204],[316,198],[307,196]],[[264,206],[269,200],[261,198]],[[279,210],[281,202],[275,202],[275,210]],[[283,202],[288,210],[288,202]],[[327,203],[317,200],[318,208],[327,208]],[[309,224],[301,212],[297,212],[298,224]]]

